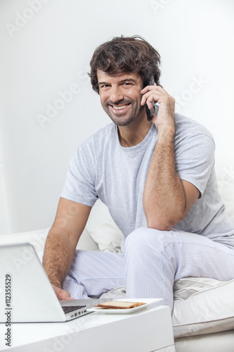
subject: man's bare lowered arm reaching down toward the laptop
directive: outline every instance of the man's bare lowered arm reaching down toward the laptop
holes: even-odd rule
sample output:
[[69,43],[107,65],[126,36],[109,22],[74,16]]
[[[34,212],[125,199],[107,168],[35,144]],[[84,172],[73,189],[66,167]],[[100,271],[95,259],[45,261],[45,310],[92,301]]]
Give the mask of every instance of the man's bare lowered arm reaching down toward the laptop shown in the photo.
[[46,239],[43,258],[46,274],[55,287],[61,288],[63,285],[90,211],[89,206],[60,198],[56,219]]

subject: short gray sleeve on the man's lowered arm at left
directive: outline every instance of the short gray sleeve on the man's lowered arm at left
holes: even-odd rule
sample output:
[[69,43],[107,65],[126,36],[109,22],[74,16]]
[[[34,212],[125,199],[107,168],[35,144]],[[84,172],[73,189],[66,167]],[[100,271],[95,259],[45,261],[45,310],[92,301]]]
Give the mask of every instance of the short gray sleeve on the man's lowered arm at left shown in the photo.
[[91,207],[98,199],[93,158],[91,154],[84,157],[80,147],[70,160],[61,197]]

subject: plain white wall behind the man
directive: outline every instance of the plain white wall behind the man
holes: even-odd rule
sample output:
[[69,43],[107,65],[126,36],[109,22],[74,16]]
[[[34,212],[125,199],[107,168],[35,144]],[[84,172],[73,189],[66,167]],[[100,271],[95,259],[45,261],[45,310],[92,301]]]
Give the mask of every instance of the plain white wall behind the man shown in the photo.
[[233,11],[232,0],[1,0],[0,234],[52,225],[70,156],[109,122],[86,71],[114,36],[160,51],[177,110],[212,131],[218,161],[233,159]]

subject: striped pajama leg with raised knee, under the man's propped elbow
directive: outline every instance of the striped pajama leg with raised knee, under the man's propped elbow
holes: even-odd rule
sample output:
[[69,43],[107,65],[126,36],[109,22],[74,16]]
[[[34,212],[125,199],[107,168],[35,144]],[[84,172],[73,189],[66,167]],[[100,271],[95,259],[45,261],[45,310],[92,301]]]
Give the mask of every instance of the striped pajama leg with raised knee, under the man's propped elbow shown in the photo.
[[125,243],[126,297],[164,298],[173,308],[174,281],[181,277],[234,278],[234,249],[207,237],[140,227]]

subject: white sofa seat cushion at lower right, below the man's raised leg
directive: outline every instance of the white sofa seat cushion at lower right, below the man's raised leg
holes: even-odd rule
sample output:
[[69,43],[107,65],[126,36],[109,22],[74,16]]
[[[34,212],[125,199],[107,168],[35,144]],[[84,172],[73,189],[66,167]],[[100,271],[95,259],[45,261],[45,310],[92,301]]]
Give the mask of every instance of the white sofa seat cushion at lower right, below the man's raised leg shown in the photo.
[[174,337],[194,336],[234,328],[234,279],[185,277],[174,284]]

